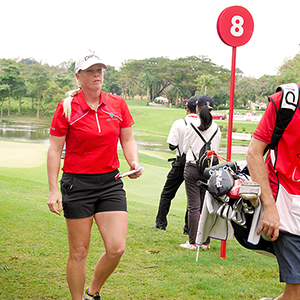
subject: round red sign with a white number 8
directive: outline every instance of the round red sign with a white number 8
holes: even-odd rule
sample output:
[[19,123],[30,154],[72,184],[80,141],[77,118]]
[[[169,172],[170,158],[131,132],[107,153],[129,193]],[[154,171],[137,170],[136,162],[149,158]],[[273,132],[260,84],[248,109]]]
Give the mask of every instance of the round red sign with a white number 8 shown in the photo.
[[225,8],[217,22],[220,39],[232,47],[245,45],[251,38],[254,22],[250,12],[242,6]]

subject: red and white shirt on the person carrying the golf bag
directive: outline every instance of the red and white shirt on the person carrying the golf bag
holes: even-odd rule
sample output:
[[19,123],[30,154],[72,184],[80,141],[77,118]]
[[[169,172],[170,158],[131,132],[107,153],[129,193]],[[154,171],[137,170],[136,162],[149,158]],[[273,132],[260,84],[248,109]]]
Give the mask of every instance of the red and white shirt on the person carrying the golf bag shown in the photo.
[[[282,92],[270,97],[268,107],[253,136],[270,143],[276,124],[276,111],[280,107]],[[279,229],[300,236],[300,150],[299,150],[300,110],[286,127],[274,150],[272,160],[270,151],[266,158],[270,186],[276,200],[280,217]],[[273,153],[272,153],[273,154]]]

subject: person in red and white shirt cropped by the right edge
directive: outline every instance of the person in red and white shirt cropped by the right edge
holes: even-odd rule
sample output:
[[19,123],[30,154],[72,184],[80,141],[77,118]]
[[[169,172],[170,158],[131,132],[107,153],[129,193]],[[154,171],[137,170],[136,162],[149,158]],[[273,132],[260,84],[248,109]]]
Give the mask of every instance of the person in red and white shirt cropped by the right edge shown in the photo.
[[[264,151],[271,143],[280,108],[293,111],[274,150]],[[247,152],[252,180],[261,187],[263,214],[257,234],[271,237],[279,265],[283,294],[261,300],[300,299],[300,108],[299,86],[288,84],[269,97],[267,109],[253,133]]]

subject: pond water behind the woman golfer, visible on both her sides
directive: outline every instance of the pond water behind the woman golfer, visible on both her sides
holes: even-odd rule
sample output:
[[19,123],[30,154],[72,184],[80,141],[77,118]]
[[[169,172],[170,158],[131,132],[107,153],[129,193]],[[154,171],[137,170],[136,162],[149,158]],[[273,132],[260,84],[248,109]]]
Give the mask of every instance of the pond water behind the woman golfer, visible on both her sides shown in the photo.
[[[49,131],[50,121],[0,119],[0,140],[49,144]],[[141,132],[134,137],[141,150],[169,152],[166,137]]]

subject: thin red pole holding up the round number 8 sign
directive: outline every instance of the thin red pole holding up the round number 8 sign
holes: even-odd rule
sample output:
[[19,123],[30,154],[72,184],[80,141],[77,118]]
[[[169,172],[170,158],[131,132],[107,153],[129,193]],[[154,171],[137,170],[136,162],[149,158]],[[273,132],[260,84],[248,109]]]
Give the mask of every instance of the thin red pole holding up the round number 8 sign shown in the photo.
[[[229,119],[228,119],[228,135],[227,135],[227,160],[231,160],[234,87],[235,87],[235,64],[236,64],[236,47],[232,47],[230,97],[229,97]],[[220,257],[221,258],[226,257],[226,241],[221,241]]]

